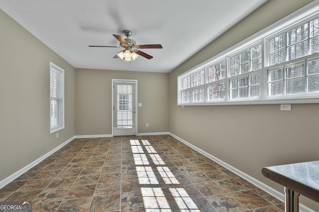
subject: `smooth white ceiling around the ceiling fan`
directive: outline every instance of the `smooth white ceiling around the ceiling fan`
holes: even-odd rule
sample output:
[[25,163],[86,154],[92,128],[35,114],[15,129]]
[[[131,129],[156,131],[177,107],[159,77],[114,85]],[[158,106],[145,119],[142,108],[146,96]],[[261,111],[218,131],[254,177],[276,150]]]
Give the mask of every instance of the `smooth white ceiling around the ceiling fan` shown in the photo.
[[[170,72],[267,0],[0,0],[0,8],[75,68]],[[113,59],[133,32],[154,58]]]

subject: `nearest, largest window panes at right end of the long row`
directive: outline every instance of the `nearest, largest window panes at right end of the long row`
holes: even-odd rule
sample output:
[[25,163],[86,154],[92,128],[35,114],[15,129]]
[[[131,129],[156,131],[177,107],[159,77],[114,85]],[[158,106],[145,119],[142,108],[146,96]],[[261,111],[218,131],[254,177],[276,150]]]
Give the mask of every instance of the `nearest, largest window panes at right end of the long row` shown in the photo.
[[319,52],[318,41],[319,18],[269,40],[269,65],[274,65],[267,70],[269,96],[318,92],[319,57],[311,56]]

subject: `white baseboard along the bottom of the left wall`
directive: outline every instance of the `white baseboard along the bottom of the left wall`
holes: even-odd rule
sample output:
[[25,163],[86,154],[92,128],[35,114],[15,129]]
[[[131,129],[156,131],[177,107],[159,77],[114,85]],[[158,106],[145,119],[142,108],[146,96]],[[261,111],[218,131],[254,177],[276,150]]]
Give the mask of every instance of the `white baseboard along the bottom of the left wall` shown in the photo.
[[57,147],[55,147],[54,149],[52,149],[48,153],[46,153],[46,154],[42,155],[41,157],[39,157],[38,159],[34,160],[32,163],[29,163],[28,165],[24,166],[20,170],[11,174],[7,178],[1,180],[0,181],[0,189],[3,188],[4,186],[6,186],[7,184],[9,184],[10,182],[12,182],[13,180],[15,180],[16,178],[18,178],[20,175],[22,175],[24,172],[26,172],[27,170],[29,170],[33,166],[40,163],[42,160],[44,160],[45,158],[47,158],[48,156],[50,156],[51,154],[53,154],[54,152],[56,152],[60,148],[62,148],[63,146],[65,146],[66,144],[68,144],[69,142],[71,142],[73,139],[75,139],[75,137],[72,137],[72,138],[68,139],[67,141],[65,141],[64,143],[61,143],[60,145],[58,145]]

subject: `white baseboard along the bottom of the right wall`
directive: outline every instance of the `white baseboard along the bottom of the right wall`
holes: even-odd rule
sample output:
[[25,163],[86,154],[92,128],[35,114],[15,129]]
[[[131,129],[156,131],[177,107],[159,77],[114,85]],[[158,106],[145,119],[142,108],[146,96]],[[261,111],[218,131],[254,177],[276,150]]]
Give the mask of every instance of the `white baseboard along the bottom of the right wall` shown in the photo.
[[[229,169],[230,171],[234,172],[235,174],[237,174],[238,176],[244,178],[245,180],[247,180],[248,182],[254,184],[255,186],[257,186],[258,188],[262,189],[263,191],[267,192],[268,194],[270,194],[271,196],[273,196],[274,198],[280,200],[281,202],[284,202],[285,200],[285,196],[283,193],[273,189],[272,187],[266,185],[265,183],[260,182],[259,180],[251,177],[250,175],[236,169],[235,167],[229,165],[228,163],[225,163],[224,161],[218,159],[217,157],[205,152],[204,150],[194,146],[193,144],[179,138],[178,136],[175,136],[172,133],[169,133],[170,136],[174,137],[175,139],[177,139],[178,141],[181,141],[183,143],[185,143],[186,145],[188,145],[189,147],[191,147],[192,149],[202,153],[203,155],[205,155],[206,157],[212,159],[213,161],[215,161],[216,163],[226,167],[227,169]],[[261,171],[261,170],[260,170]],[[284,191],[283,191],[284,192]],[[308,208],[307,206],[300,204],[299,203],[299,209],[301,212],[315,212],[312,209]]]

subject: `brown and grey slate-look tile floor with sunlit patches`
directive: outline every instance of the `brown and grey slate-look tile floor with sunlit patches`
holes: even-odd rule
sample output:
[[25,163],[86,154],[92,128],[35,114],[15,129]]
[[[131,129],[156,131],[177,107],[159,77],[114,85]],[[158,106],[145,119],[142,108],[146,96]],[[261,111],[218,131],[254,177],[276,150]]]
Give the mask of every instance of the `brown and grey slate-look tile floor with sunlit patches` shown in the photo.
[[284,204],[168,135],[75,139],[0,189],[32,212],[283,212]]

